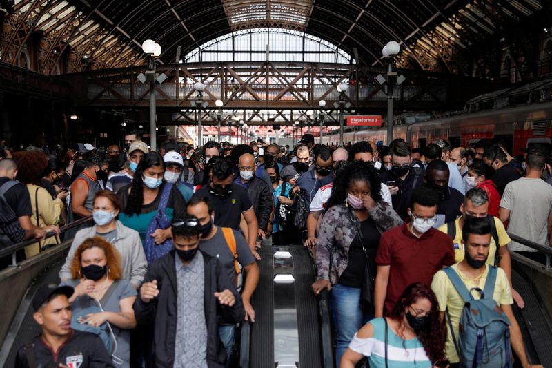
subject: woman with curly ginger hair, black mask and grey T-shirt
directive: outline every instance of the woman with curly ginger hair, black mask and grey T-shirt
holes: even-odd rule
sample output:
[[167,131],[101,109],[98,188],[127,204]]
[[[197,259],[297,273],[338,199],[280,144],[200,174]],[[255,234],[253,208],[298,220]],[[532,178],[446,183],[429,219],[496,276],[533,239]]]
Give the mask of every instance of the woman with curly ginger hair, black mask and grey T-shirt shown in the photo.
[[100,236],[88,238],[72,258],[69,285],[71,327],[102,336],[117,367],[130,367],[130,329],[136,327],[134,304],[137,291],[121,280],[121,255]]

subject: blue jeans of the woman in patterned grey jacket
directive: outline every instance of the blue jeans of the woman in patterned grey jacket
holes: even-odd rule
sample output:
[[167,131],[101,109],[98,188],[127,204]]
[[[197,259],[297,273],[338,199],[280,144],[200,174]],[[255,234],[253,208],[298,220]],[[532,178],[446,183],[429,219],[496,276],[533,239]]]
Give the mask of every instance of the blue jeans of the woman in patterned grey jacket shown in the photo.
[[330,303],[332,308],[333,323],[335,325],[335,342],[337,345],[335,351],[335,363],[339,368],[341,358],[355,333],[368,320],[360,309],[360,288],[345,287],[337,284],[330,291]]

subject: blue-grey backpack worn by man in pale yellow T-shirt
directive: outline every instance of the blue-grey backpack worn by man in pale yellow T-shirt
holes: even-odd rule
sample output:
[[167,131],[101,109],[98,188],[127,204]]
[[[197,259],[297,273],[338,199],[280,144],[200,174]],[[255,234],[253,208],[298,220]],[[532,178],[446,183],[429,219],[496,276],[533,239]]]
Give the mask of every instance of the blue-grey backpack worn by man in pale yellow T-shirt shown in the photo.
[[[460,367],[512,367],[510,321],[493,299],[497,267],[489,266],[483,291],[479,288],[468,290],[460,276],[451,267],[446,267],[443,271],[465,303],[460,316],[458,339],[453,330],[449,310],[446,310],[454,347],[460,358]],[[475,300],[471,295],[472,290],[478,291],[481,299]]]

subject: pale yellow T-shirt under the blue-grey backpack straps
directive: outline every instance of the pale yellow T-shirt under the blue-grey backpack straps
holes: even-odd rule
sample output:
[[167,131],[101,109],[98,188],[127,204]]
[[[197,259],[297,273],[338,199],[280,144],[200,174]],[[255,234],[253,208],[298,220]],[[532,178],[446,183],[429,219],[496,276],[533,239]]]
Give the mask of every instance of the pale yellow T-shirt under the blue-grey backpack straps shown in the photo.
[[[477,280],[471,280],[470,278],[464,276],[462,272],[458,271],[458,264],[453,264],[451,267],[460,276],[460,279],[464,282],[464,285],[466,285],[466,288],[468,290],[474,287],[484,289],[487,275],[489,274],[489,267],[486,267],[483,275],[481,275],[480,278],[477,278]],[[464,308],[464,300],[462,300],[462,297],[456,291],[456,288],[451,282],[451,279],[449,279],[449,276],[447,276],[446,273],[444,273],[444,271],[442,270],[437,271],[437,273],[435,273],[435,276],[433,276],[431,289],[435,293],[435,296],[437,296],[437,302],[439,302],[439,311],[444,312],[447,308],[449,309],[451,322],[454,329],[454,335],[456,336],[456,339],[458,339],[458,325],[460,324],[462,308]],[[477,291],[472,291],[471,295],[474,299],[479,299],[481,297],[480,293],[478,293]],[[508,282],[506,273],[500,267],[497,268],[493,299],[499,305],[513,304],[510,283]],[[458,358],[458,354],[456,354],[452,334],[451,331],[449,331],[449,321],[445,319],[445,322],[447,330],[445,344],[446,357],[449,358],[451,363],[457,363],[460,362],[460,358]]]

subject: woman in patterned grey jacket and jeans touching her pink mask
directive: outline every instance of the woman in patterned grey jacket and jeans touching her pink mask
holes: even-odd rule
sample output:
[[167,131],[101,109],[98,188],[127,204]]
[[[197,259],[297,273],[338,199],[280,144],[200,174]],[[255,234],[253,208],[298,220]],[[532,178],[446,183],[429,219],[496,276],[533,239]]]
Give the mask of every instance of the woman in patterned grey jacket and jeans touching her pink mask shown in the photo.
[[402,220],[382,200],[380,175],[360,161],[337,176],[326,209],[317,238],[313,291],[331,291],[339,362],[355,332],[374,313],[371,301],[380,235]]

